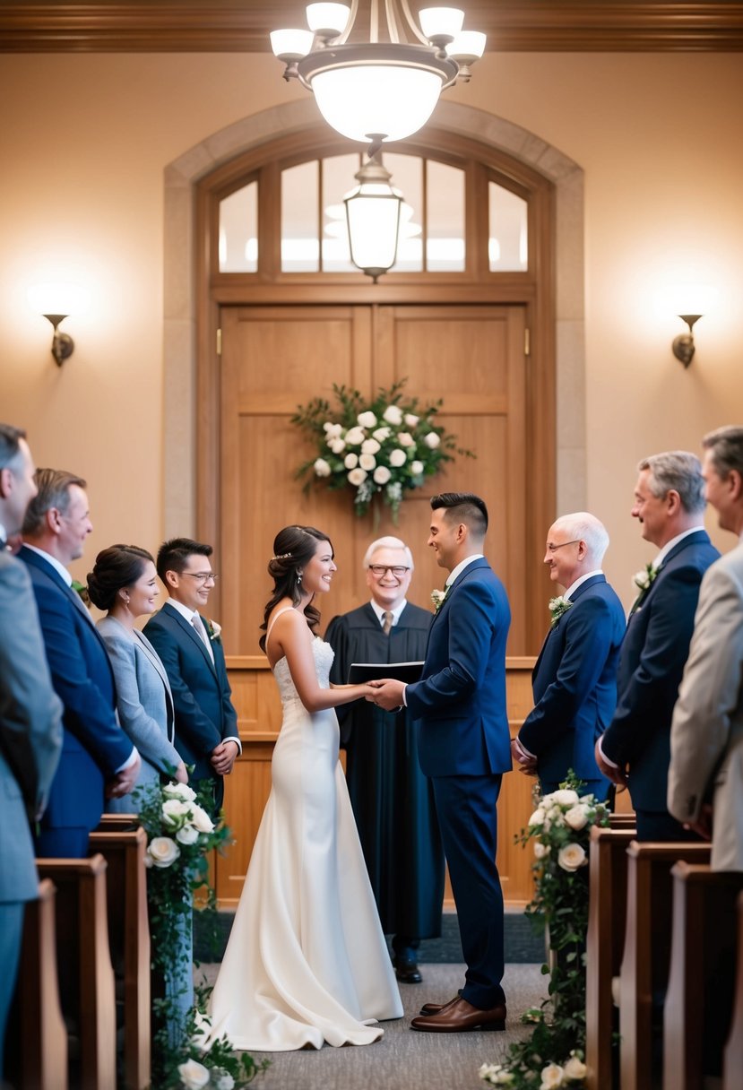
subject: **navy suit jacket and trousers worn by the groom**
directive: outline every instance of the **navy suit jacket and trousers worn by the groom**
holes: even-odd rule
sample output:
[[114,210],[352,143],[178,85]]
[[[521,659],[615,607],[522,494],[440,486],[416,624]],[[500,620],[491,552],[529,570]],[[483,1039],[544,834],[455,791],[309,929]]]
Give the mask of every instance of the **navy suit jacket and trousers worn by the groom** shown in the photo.
[[496,869],[501,774],[511,768],[506,639],[511,610],[487,560],[460,572],[434,618],[422,678],[405,690],[418,720],[467,965],[462,997],[503,1003],[503,896]]

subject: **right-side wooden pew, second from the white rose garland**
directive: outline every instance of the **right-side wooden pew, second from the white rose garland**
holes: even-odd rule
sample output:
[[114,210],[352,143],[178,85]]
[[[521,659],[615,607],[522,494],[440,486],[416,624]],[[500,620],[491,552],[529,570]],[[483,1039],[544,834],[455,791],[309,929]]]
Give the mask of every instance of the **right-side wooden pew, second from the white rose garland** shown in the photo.
[[708,863],[710,846],[680,841],[628,848],[624,953],[619,984],[622,1090],[651,1090],[653,996],[668,985],[671,953],[671,868],[680,860]]

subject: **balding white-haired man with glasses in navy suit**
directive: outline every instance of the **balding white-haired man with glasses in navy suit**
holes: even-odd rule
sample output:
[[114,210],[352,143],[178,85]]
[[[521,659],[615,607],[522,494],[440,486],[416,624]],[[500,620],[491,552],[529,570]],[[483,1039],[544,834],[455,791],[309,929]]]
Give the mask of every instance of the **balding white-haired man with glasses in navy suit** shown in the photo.
[[587,511],[564,514],[547,535],[545,564],[567,588],[550,603],[552,622],[532,674],[534,708],[511,752],[521,772],[538,775],[544,795],[572,768],[584,794],[601,801],[609,780],[596,764],[596,740],[617,706],[617,662],[624,610],[601,571],[609,534]]

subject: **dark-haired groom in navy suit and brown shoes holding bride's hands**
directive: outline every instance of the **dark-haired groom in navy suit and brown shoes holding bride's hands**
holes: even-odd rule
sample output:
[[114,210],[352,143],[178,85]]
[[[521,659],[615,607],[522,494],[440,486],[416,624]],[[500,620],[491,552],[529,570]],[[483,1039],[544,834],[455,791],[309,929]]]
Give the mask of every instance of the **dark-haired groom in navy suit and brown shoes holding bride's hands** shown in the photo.
[[[472,493],[434,496],[428,545],[449,571],[430,627],[419,681],[376,682],[374,702],[406,705],[419,720],[418,756],[430,777],[449,864],[465,984],[444,1004],[426,1004],[412,1028],[459,1033],[503,1029],[503,896],[496,868],[501,774],[511,768],[506,712],[506,638],[511,610],[483,556],[488,512]],[[374,685],[375,682],[373,682]]]

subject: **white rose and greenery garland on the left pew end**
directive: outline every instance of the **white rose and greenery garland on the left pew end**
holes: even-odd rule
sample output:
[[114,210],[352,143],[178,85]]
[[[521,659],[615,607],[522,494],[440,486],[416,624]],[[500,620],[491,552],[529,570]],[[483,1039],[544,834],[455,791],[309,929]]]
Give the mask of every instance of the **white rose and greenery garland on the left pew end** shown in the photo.
[[207,786],[194,790],[186,784],[170,783],[155,790],[148,786],[136,795],[139,824],[147,834],[151,967],[155,979],[166,982],[165,997],[153,1003],[150,1085],[158,1090],[245,1087],[268,1062],[257,1065],[247,1053],[233,1053],[226,1037],[204,1050],[199,1042],[210,989],[196,989],[196,1002],[185,1016],[178,1002],[178,981],[193,971],[183,935],[190,934],[195,893],[203,923],[199,933],[216,948],[219,923],[217,898],[209,883],[209,853],[229,844],[232,834],[223,821],[215,825],[210,819]]

